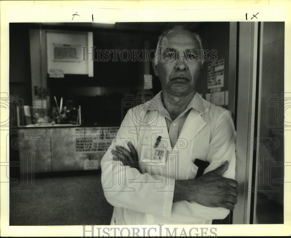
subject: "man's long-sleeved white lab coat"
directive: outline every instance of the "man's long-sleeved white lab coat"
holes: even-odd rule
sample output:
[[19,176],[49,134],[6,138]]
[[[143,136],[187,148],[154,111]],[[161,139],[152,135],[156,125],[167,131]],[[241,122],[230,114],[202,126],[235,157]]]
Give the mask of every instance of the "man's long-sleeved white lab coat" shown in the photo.
[[[173,203],[173,191],[176,179],[195,178],[196,158],[210,163],[204,173],[227,160],[229,166],[223,176],[235,178],[236,133],[231,112],[196,93],[194,106],[172,149],[165,118],[156,110],[147,109],[157,103],[159,95],[128,110],[116,140],[102,158],[104,195],[114,206],[111,225],[211,224],[212,219],[225,218],[229,210],[222,207],[205,207],[194,201]],[[158,136],[162,136],[160,145],[166,147],[166,166],[142,166],[139,173],[113,161],[111,149],[115,145],[129,149],[126,143],[131,141],[140,158],[141,145],[154,145]]]

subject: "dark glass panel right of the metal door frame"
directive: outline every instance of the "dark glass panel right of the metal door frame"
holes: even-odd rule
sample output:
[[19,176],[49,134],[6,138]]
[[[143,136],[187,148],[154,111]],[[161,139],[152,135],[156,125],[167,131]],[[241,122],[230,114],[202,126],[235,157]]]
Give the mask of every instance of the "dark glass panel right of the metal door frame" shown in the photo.
[[261,24],[254,220],[284,223],[284,22]]

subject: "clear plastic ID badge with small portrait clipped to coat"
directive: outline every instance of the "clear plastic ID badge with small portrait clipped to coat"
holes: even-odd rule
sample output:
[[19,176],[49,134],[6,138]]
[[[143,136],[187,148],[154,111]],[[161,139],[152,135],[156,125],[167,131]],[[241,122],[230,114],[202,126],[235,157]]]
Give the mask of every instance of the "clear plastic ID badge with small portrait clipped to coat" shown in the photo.
[[143,144],[140,161],[149,165],[166,166],[166,150]]

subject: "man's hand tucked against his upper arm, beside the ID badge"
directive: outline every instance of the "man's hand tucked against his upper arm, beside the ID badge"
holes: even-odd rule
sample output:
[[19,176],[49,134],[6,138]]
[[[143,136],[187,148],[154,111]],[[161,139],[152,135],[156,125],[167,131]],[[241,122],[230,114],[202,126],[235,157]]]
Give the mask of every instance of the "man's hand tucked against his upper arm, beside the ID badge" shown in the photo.
[[123,165],[128,165],[131,168],[136,168],[140,172],[139,158],[137,152],[134,149],[132,143],[128,142],[127,145],[130,149],[130,152],[124,147],[119,145],[116,145],[115,147],[116,150],[115,149],[111,150],[111,153],[113,154],[113,160],[121,161]]

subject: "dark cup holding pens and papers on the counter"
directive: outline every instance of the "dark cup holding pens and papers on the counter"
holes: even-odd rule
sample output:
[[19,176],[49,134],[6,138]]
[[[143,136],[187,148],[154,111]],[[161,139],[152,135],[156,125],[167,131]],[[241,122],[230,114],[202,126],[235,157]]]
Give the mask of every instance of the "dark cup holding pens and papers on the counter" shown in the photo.
[[53,107],[53,117],[56,124],[79,124],[81,125],[81,106],[78,109],[74,107],[72,100],[67,100],[63,107],[63,97],[61,98],[60,107],[56,96],[54,96],[56,107]]

